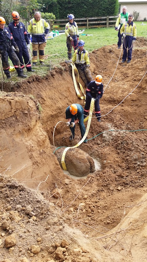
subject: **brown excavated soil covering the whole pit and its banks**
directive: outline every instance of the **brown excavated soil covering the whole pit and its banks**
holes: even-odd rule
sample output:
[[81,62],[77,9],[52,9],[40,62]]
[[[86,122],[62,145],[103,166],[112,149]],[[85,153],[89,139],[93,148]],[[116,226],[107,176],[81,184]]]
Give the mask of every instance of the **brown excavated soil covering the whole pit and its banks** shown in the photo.
[[[119,55],[116,45],[90,53],[93,79],[101,74],[105,87]],[[1,262],[147,260],[147,131],[125,131],[147,129],[146,61],[146,39],[138,38],[131,63],[120,59],[105,89],[101,114],[141,82],[101,123],[92,119],[88,139],[100,135],[79,148],[100,161],[101,170],[83,179],[64,174],[53,154],[54,127],[66,121],[66,107],[84,107],[71,68],[62,63],[46,77],[5,83],[0,95]],[[78,125],[75,134],[74,144],[81,139]],[[69,128],[58,123],[55,146],[72,146],[69,136]]]

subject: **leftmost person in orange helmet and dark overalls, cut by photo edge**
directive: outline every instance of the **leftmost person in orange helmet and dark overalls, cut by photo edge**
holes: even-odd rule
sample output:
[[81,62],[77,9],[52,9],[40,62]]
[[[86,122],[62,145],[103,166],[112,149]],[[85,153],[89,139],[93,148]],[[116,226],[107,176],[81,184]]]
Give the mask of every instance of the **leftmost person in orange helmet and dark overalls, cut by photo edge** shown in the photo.
[[5,27],[6,21],[0,16],[0,57],[2,59],[2,67],[7,79],[11,78],[10,76],[10,64],[8,62],[8,56],[12,61],[14,68],[18,73],[18,77],[27,77],[23,74],[23,70],[20,67],[20,61],[15,54],[12,46],[14,46],[16,52],[19,52],[19,48],[14,41],[13,36],[10,34],[9,29]]

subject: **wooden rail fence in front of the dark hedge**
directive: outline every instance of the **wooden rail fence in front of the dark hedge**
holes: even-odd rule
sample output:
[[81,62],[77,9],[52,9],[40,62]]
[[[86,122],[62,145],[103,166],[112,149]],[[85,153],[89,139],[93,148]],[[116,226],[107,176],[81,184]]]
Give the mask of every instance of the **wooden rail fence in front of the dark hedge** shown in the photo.
[[[78,28],[96,28],[96,27],[114,27],[118,16],[100,16],[100,17],[86,17],[86,18],[75,18]],[[54,23],[53,23],[54,21]],[[65,29],[68,19],[55,19],[50,20],[50,28],[53,30],[54,27],[58,30]]]

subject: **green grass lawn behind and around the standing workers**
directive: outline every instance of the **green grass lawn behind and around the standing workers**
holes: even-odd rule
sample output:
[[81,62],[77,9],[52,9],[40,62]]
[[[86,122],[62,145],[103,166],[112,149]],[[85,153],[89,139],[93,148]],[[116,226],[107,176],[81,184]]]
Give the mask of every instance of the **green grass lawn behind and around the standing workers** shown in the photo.
[[[147,22],[146,25],[144,26],[140,25],[141,23],[142,22],[135,22],[137,27],[137,36],[147,37]],[[145,22],[143,23],[145,24]],[[99,27],[99,28],[85,29],[85,31],[83,31],[83,34],[87,34],[87,35],[79,34],[80,36],[79,39],[84,40],[85,42],[84,47],[88,52],[92,52],[94,49],[101,48],[105,45],[117,44],[118,41],[117,31],[114,30],[114,27],[109,27],[109,28]],[[51,61],[52,65],[56,65],[58,67],[60,66],[60,63],[62,61],[68,59],[65,34],[54,37],[54,39],[47,40],[45,54],[48,55],[48,57],[45,60],[45,63],[50,64]],[[57,54],[57,55],[50,56],[53,54]],[[11,61],[10,61],[10,65],[12,65]],[[50,70],[49,67],[40,67],[39,63],[37,67],[34,67],[34,69],[35,69],[35,74],[41,76],[46,75],[48,70]],[[27,73],[27,74],[28,76],[30,76],[32,73]],[[1,72],[0,72],[0,76],[1,76]],[[12,80],[16,81],[16,79],[18,79],[16,76],[17,74],[15,74],[15,79]]]

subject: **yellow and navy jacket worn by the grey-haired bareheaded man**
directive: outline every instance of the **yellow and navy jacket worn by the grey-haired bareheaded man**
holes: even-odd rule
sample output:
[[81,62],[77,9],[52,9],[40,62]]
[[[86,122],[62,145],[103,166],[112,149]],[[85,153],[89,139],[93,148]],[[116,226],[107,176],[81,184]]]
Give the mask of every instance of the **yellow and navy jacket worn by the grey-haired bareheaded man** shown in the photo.
[[[45,31],[44,31],[45,29]],[[46,41],[45,35],[47,35],[50,30],[50,25],[44,19],[36,21],[35,18],[31,19],[28,24],[28,36],[32,34],[32,43],[33,44],[42,44]]]

